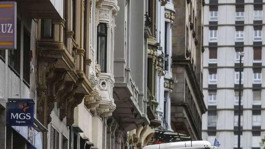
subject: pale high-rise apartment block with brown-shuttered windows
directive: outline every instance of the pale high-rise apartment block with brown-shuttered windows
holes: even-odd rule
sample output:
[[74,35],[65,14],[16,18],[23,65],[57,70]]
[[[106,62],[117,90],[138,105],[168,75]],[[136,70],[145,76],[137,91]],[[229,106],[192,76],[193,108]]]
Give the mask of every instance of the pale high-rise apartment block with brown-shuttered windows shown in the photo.
[[[238,147],[238,104],[241,96],[241,148],[259,149],[265,128],[264,1],[205,0],[202,138],[221,148]],[[242,94],[239,95],[239,53]]]

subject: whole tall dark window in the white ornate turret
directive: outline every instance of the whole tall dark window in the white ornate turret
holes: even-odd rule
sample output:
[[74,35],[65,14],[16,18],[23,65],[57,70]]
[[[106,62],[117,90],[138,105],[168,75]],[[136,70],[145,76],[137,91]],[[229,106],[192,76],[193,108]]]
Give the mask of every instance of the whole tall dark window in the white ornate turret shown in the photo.
[[107,24],[99,23],[97,39],[97,61],[101,72],[107,72]]

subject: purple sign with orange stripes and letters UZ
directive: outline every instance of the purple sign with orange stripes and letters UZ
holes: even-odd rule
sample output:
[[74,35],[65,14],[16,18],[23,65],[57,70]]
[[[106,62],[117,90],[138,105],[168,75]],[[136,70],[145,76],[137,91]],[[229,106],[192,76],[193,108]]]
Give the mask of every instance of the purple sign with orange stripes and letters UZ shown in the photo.
[[17,2],[0,2],[0,49],[17,49]]

